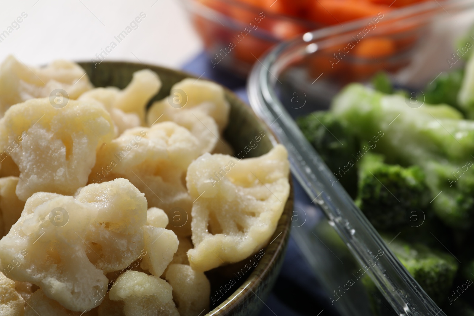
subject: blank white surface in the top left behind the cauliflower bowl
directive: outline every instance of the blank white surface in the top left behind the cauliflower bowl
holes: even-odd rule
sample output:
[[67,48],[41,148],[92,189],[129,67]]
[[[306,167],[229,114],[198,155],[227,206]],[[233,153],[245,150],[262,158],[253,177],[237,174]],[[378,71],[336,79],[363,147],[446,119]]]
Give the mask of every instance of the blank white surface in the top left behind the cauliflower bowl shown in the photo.
[[[0,0],[0,33],[22,12],[27,18],[0,43],[0,61],[16,54],[27,64],[54,59],[90,61],[113,40],[105,60],[179,68],[202,49],[181,0]],[[114,39],[140,12],[146,18],[118,43]]]

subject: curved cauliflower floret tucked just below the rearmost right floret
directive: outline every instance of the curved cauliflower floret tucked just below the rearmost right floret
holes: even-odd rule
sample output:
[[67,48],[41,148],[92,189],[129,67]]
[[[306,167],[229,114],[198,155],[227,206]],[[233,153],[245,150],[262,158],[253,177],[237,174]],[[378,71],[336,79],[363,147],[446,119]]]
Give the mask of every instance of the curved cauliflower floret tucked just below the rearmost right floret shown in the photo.
[[199,140],[201,154],[210,153],[219,142],[219,129],[216,122],[212,117],[199,110],[177,111],[176,108],[171,107],[166,102],[162,102],[155,105],[154,111],[162,111],[162,115],[150,121],[153,115],[150,114],[151,112],[148,112],[147,119],[149,126],[165,121],[173,121],[179,126],[183,126]]

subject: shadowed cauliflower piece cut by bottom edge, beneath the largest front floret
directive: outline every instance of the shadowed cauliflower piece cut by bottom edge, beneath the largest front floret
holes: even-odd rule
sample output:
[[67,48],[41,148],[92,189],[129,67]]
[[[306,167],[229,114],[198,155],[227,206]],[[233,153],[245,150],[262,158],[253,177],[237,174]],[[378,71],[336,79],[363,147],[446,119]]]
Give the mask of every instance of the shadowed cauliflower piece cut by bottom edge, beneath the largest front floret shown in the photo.
[[73,312],[67,310],[56,302],[54,299],[48,298],[42,289],[38,289],[27,300],[25,307],[25,316],[96,316],[97,308],[88,312]]

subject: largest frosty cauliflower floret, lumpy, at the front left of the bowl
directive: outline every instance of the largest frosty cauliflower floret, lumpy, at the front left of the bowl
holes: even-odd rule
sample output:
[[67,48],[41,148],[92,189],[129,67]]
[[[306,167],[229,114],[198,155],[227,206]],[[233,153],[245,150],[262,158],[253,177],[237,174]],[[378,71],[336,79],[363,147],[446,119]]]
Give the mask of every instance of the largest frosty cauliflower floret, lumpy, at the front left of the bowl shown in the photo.
[[88,185],[75,197],[35,193],[0,240],[2,271],[67,309],[90,310],[104,298],[104,273],[143,250],[145,224],[146,199],[126,179]]

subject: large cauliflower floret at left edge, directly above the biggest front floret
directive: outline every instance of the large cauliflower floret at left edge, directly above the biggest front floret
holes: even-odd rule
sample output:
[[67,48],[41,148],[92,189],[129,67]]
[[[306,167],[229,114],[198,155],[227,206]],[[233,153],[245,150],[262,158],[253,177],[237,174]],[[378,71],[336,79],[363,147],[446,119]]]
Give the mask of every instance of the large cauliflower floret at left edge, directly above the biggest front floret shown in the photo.
[[109,113],[96,101],[69,100],[55,108],[49,99],[31,99],[0,120],[1,154],[18,165],[16,193],[23,201],[36,191],[74,194],[87,183],[97,148],[113,135]]

